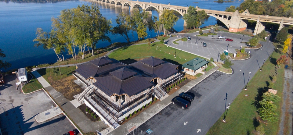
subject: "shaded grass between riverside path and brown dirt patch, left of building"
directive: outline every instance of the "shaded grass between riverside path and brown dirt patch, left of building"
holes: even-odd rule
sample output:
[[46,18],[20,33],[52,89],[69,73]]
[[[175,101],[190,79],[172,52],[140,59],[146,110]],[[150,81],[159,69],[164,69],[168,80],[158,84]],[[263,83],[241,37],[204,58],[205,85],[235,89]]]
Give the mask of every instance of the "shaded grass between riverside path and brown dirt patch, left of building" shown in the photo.
[[[56,66],[56,68],[58,68],[58,66]],[[72,71],[74,71],[75,69],[76,69],[76,66],[70,66],[69,68],[67,68],[67,67],[60,67],[60,70],[61,70],[62,75],[60,75],[60,72],[58,73],[58,75],[57,75],[58,80],[61,79],[61,78],[65,78],[67,76],[70,76],[72,74]],[[56,76],[53,73],[53,68],[43,68],[43,69],[38,69],[37,71],[50,84],[52,83],[52,82],[50,82],[50,80],[52,80],[52,81],[56,81],[57,80]],[[49,79],[49,77],[51,79]]]

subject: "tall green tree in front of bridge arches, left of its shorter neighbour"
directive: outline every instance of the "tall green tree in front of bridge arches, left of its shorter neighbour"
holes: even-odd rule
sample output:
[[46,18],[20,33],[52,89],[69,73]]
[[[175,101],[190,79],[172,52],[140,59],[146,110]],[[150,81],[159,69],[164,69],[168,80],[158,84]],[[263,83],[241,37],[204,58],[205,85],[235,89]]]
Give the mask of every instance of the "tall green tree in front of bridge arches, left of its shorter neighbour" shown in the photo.
[[189,6],[187,9],[187,13],[183,15],[183,20],[186,22],[187,29],[193,28],[198,25],[198,20],[197,20],[197,9],[194,8],[194,6]]

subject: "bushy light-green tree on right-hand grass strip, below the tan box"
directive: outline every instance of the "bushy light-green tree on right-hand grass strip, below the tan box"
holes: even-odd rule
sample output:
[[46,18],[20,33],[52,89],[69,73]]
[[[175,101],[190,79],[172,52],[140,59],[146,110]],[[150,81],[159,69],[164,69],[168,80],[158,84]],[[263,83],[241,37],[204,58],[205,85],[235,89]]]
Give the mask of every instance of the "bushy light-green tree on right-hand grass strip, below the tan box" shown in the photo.
[[256,111],[258,111],[259,116],[263,120],[266,120],[268,122],[274,122],[278,119],[277,114],[275,113],[275,110],[277,109],[276,105],[265,99],[259,101],[259,104],[261,105],[261,107],[257,108]]

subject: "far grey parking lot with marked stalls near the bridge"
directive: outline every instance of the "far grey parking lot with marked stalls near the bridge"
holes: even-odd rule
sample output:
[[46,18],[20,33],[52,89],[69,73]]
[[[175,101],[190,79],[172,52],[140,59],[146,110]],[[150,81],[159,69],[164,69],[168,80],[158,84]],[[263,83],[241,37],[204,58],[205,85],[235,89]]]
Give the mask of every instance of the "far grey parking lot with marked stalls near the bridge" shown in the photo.
[[[204,32],[206,33],[207,30]],[[180,50],[186,50],[188,52],[206,57],[206,58],[211,58],[213,57],[214,59],[217,59],[219,52],[223,53],[224,50],[227,50],[228,47],[228,52],[229,53],[236,53],[235,49],[240,49],[241,46],[245,46],[245,44],[241,43],[242,37],[243,37],[243,42],[247,42],[251,37],[248,35],[243,34],[234,34],[234,33],[229,33],[229,32],[224,32],[224,31],[219,31],[217,35],[214,35],[214,38],[212,38],[212,35],[208,35],[208,37],[196,37],[198,32],[193,33],[193,34],[182,34],[181,37],[191,37],[190,41],[178,41],[177,44],[173,44],[172,41],[175,41],[178,38],[172,38],[169,42],[168,45],[178,48]],[[224,39],[217,39],[216,37],[218,36],[223,36],[226,38],[231,38],[233,39],[233,42],[231,41],[225,41]],[[180,37],[180,35],[178,36]],[[197,44],[196,44],[197,41]],[[205,42],[207,44],[207,47],[203,47],[202,42]]]

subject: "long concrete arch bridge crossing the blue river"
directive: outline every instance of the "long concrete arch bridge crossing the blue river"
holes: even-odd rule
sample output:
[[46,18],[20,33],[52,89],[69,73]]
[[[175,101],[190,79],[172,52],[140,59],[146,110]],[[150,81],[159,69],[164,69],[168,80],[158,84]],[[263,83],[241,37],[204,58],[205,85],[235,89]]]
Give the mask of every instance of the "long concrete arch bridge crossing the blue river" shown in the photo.
[[[158,4],[152,2],[139,2],[132,1],[132,0],[89,0],[93,2],[98,2],[110,6],[121,7],[122,9],[132,9],[135,8],[142,8],[145,11],[152,14],[153,10],[157,10],[158,12],[162,12],[163,10],[174,10],[178,12],[180,15],[184,15],[187,13],[188,7],[184,6],[176,6],[167,4]],[[262,30],[265,29],[266,22],[270,23],[277,23],[279,24],[278,32],[283,28],[285,25],[293,25],[293,19],[291,17],[276,17],[276,16],[263,16],[263,15],[253,15],[245,10],[243,13],[239,13],[238,10],[235,12],[225,12],[225,11],[217,11],[217,10],[210,10],[210,9],[200,9],[196,6],[198,11],[204,10],[208,16],[215,17],[216,19],[220,20],[222,23],[229,28],[230,32],[238,32],[241,30],[245,30],[247,27],[248,20],[256,21],[256,27],[253,32],[254,35],[259,34]],[[184,25],[186,25],[184,23]]]

